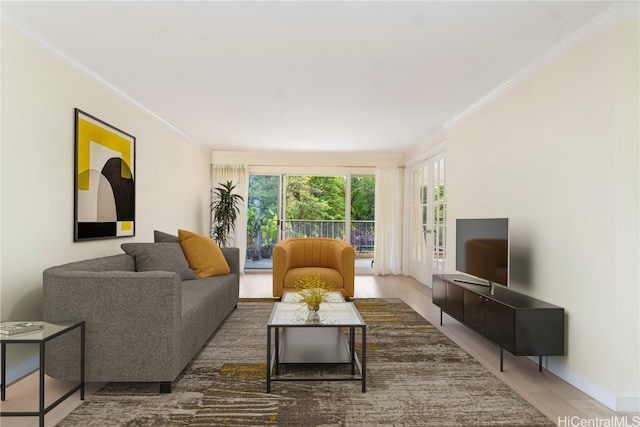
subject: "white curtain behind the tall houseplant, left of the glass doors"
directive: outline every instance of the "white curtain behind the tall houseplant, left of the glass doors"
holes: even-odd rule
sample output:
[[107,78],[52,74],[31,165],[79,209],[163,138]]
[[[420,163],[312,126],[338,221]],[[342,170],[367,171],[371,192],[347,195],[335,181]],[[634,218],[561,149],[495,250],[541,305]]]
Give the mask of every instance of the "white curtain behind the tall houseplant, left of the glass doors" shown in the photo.
[[249,167],[247,165],[212,165],[211,189],[220,183],[231,181],[236,185],[236,193],[242,196],[244,203],[238,213],[235,231],[231,235],[230,246],[240,248],[240,271],[244,271],[247,253],[247,198],[249,196]]

